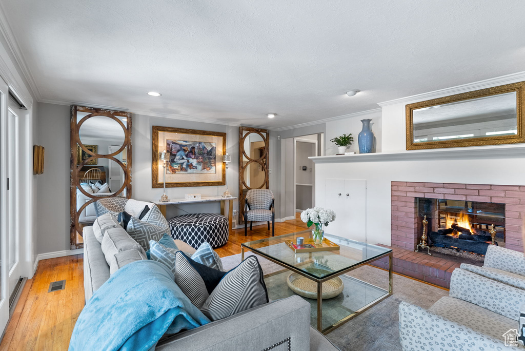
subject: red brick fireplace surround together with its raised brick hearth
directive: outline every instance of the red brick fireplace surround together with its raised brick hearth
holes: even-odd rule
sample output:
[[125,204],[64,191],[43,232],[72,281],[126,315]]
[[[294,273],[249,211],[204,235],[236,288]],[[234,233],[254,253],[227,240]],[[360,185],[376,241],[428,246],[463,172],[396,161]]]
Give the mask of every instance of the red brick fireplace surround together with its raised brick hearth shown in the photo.
[[[448,288],[461,260],[414,252],[422,234],[418,199],[447,199],[505,205],[505,247],[522,251],[525,187],[518,185],[392,182],[391,245],[394,272]],[[482,257],[482,256],[481,256]],[[481,264],[481,263],[479,263]],[[374,265],[387,269],[386,260]]]

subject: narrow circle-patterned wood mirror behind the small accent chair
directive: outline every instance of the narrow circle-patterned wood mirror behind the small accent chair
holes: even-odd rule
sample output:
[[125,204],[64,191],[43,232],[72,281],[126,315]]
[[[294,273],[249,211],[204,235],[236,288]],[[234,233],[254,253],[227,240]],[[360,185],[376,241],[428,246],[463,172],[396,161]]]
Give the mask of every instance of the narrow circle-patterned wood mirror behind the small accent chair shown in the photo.
[[239,127],[239,223],[244,223],[244,199],[250,189],[269,189],[267,129]]

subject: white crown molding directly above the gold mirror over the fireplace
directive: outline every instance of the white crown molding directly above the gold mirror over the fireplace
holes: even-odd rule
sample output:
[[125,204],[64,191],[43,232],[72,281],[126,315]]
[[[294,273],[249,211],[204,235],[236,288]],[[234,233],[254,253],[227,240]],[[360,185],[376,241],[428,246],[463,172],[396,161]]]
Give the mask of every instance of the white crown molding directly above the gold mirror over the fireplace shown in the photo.
[[379,102],[377,105],[381,107],[395,105],[395,104],[411,104],[412,102],[419,102],[425,100],[436,99],[444,96],[461,94],[463,92],[469,92],[479,89],[496,87],[499,85],[516,83],[519,81],[525,80],[525,71],[512,73],[506,76],[500,76],[496,78],[490,78],[485,80],[479,80],[472,83],[467,83],[463,85],[458,85],[455,87],[439,89],[434,91],[425,92],[423,94],[417,94],[412,96],[407,96],[400,99],[389,100],[385,102]]

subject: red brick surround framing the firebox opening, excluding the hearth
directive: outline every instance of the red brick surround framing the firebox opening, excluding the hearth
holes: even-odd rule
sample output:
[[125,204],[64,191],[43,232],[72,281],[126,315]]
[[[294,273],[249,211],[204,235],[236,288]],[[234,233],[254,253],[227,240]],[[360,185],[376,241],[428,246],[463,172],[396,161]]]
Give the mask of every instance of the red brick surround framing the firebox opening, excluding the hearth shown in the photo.
[[525,187],[518,185],[392,182],[391,243],[413,251],[419,242],[416,198],[505,204],[505,247],[523,250],[521,229],[525,218]]

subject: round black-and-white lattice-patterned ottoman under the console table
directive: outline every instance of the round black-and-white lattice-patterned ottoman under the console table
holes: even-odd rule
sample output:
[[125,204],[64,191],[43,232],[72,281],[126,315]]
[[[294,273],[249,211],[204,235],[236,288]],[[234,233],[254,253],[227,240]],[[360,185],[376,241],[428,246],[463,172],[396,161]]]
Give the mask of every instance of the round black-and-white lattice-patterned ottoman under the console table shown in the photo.
[[171,218],[171,236],[197,249],[207,242],[219,247],[228,242],[228,219],[216,213],[191,213]]

